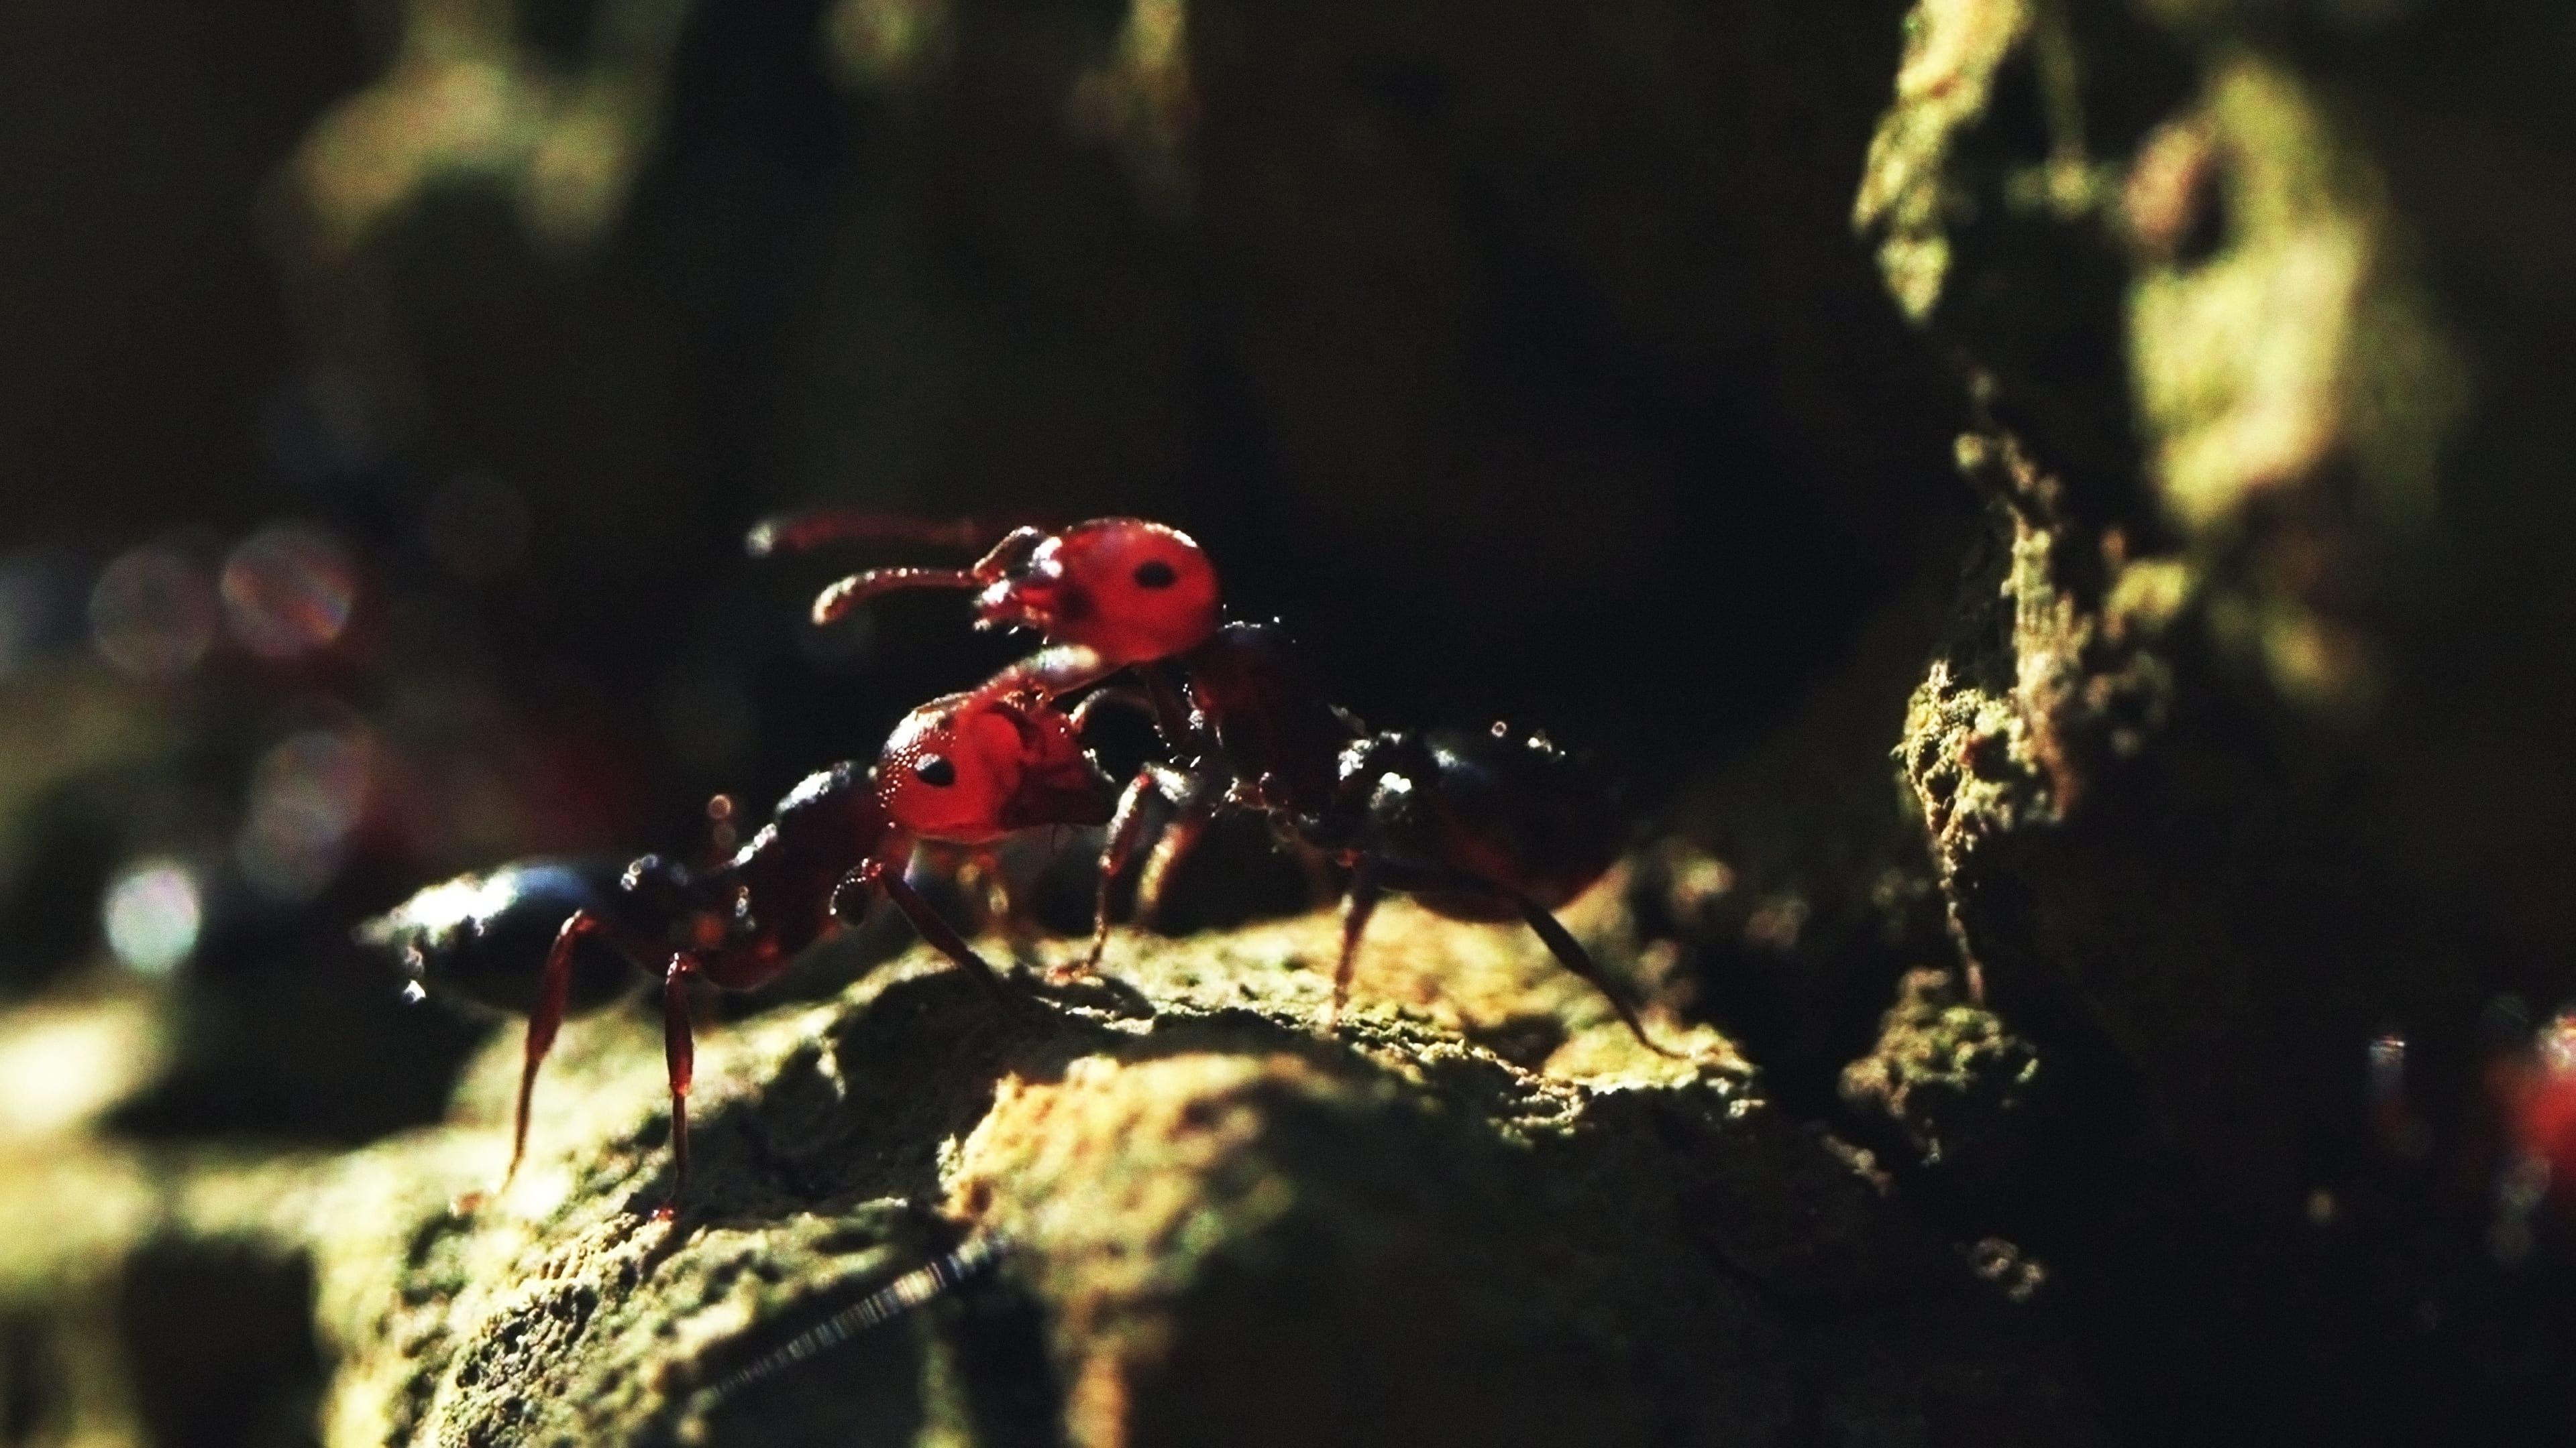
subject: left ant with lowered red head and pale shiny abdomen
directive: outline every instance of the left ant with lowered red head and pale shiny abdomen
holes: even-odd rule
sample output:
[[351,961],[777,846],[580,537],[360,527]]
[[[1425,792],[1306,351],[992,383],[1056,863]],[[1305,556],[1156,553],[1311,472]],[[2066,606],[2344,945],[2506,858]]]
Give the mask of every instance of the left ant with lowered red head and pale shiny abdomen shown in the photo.
[[775,819],[719,866],[688,868],[644,855],[626,866],[616,889],[600,889],[569,866],[505,866],[430,886],[361,928],[361,938],[402,948],[415,992],[420,979],[438,976],[492,1002],[505,995],[495,987],[507,976],[495,958],[500,948],[523,940],[536,920],[562,920],[528,1015],[502,1185],[528,1152],[536,1072],[572,1007],[577,979],[585,997],[598,995],[603,961],[592,943],[611,946],[647,974],[657,971],[672,1144],[672,1190],[659,1216],[670,1216],[688,1185],[690,979],[757,989],[837,922],[860,915],[863,899],[853,891],[881,891],[922,940],[999,995],[994,969],[904,884],[914,840],[987,845],[1012,830],[1100,824],[1108,814],[1108,778],[1082,752],[1069,716],[1043,698],[958,693],[912,711],[873,770],[840,763],[806,776],[778,801]]

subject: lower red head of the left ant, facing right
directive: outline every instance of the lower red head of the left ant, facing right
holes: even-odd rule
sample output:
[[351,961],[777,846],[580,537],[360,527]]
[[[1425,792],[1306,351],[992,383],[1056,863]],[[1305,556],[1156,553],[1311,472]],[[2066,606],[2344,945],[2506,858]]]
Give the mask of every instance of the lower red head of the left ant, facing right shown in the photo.
[[1074,721],[1036,698],[951,693],[894,727],[876,799],[925,840],[981,845],[1033,824],[1105,824],[1110,781]]

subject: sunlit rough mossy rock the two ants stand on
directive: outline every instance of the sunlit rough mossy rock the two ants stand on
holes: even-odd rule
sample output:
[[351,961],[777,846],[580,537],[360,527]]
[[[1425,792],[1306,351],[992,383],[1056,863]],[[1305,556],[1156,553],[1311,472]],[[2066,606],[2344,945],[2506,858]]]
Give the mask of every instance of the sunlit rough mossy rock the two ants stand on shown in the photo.
[[[459,1206],[502,1038],[456,1126],[317,1188],[325,1440],[2089,1440],[2027,1311],[1716,1033],[1654,1056],[1535,943],[1409,907],[1324,1033],[1334,940],[1121,938],[1025,1010],[907,956],[708,1031],[672,1224],[644,1020],[572,1031],[520,1183]],[[963,1239],[1007,1247],[719,1391]]]

